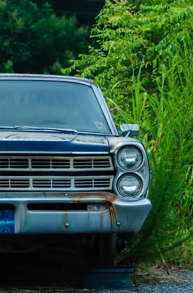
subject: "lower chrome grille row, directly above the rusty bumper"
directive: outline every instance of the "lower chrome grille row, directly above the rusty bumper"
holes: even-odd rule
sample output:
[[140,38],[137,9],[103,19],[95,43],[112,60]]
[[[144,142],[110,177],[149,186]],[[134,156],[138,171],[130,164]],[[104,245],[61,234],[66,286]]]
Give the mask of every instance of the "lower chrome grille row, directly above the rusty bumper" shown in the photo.
[[1,190],[109,190],[114,176],[39,176],[0,177]]

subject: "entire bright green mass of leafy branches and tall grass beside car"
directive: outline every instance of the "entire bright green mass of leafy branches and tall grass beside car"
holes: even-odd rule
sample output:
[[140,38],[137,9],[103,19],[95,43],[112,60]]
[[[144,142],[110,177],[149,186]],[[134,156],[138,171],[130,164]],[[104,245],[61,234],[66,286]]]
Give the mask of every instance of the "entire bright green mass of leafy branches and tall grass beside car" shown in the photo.
[[132,2],[106,1],[92,29],[99,49],[62,72],[99,84],[117,125],[140,124],[153,208],[123,258],[184,259],[193,254],[193,1]]

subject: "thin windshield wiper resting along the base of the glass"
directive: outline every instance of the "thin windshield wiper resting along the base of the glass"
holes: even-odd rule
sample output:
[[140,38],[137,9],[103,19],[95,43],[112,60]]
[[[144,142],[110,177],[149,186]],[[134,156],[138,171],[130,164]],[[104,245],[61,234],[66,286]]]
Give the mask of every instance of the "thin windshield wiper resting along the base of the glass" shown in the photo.
[[49,128],[49,127],[36,127],[36,126],[0,126],[0,129],[29,129],[29,130],[49,130],[49,131],[57,131],[61,133],[72,133],[78,134],[78,131],[75,129],[65,129],[65,128]]

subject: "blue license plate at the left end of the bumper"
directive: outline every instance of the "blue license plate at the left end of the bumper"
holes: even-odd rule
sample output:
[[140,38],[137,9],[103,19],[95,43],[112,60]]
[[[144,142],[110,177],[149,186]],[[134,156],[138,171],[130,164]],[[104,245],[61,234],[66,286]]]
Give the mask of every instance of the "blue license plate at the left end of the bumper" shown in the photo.
[[0,210],[0,234],[14,234],[14,210]]

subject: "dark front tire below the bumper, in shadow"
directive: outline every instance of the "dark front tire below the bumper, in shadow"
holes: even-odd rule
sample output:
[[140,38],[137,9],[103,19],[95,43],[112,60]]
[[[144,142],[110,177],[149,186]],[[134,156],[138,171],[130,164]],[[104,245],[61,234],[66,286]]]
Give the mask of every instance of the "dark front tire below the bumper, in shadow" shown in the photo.
[[117,265],[117,234],[100,234],[97,241],[98,264],[102,266]]

